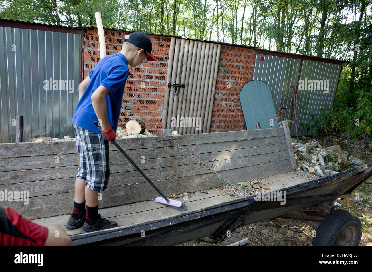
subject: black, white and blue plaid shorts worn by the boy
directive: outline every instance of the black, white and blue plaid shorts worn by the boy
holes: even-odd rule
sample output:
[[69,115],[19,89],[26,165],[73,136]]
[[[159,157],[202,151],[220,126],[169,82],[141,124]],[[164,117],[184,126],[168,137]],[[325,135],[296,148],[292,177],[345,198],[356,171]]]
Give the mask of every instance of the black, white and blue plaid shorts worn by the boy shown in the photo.
[[76,147],[80,158],[77,178],[93,191],[105,191],[110,177],[109,141],[98,133],[76,126]]

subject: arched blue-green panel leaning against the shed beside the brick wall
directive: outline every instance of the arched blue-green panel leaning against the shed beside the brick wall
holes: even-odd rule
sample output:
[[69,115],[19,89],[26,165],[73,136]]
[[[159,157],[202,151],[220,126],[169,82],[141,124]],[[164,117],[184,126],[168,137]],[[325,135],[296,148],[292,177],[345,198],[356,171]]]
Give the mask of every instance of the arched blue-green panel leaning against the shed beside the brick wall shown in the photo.
[[279,127],[275,120],[276,112],[271,96],[269,85],[260,80],[247,82],[239,93],[241,110],[247,130],[257,129],[256,123],[260,123],[261,129]]

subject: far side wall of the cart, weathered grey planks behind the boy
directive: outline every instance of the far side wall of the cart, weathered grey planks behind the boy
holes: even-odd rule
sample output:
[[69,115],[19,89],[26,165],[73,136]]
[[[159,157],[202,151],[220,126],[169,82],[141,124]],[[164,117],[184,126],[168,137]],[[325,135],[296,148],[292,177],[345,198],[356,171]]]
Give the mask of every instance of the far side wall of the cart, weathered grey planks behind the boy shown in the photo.
[[[117,139],[116,142],[165,194],[183,194],[224,185],[200,167],[170,136]],[[283,127],[261,130],[171,136],[180,146],[231,183],[292,170]],[[151,200],[157,192],[134,166],[110,146],[110,179],[99,207]],[[0,201],[27,219],[71,213],[80,165],[75,141],[0,144],[0,197],[29,194],[26,201]],[[20,195],[19,195],[20,197]],[[182,198],[180,198],[182,200]],[[29,202],[29,203],[27,203]]]

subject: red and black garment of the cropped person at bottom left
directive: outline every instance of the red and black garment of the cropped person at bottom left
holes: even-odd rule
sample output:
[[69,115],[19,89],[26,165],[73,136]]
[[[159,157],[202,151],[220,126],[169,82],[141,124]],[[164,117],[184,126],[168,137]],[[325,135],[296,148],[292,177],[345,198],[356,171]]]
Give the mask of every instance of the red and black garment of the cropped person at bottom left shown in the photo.
[[33,223],[12,208],[0,207],[0,246],[42,246],[48,228]]

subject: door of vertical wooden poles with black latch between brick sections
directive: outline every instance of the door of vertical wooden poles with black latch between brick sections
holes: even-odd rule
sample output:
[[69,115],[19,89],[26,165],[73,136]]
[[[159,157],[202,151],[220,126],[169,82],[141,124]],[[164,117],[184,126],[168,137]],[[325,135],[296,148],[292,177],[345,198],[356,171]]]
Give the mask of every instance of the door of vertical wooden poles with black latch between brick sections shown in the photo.
[[209,132],[220,53],[219,44],[171,38],[163,129]]

